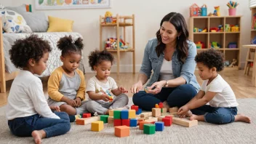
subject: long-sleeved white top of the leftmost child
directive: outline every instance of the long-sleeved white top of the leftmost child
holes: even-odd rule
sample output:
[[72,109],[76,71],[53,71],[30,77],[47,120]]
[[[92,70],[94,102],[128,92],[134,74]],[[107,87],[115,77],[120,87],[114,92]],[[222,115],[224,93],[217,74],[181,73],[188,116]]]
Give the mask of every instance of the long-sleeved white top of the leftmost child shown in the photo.
[[47,104],[41,80],[30,71],[20,70],[9,91],[7,119],[32,116],[36,113],[44,118],[60,119]]

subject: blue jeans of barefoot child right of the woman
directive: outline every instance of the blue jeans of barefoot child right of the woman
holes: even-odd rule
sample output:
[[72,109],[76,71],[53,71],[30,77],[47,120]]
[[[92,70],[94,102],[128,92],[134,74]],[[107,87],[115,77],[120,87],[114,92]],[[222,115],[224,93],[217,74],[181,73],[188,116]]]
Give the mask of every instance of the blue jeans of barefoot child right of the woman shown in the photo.
[[203,105],[191,110],[195,115],[204,115],[204,121],[212,124],[228,124],[235,121],[237,108],[215,108],[210,105]]

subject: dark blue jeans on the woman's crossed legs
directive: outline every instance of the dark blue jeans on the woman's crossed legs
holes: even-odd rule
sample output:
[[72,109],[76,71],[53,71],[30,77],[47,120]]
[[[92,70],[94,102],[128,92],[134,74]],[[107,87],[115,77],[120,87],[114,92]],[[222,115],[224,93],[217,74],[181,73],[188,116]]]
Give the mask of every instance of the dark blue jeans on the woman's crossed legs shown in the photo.
[[181,107],[196,96],[196,89],[191,84],[183,84],[178,87],[163,87],[156,95],[140,91],[133,95],[132,101],[139,108],[151,111],[156,104],[167,100],[169,107]]

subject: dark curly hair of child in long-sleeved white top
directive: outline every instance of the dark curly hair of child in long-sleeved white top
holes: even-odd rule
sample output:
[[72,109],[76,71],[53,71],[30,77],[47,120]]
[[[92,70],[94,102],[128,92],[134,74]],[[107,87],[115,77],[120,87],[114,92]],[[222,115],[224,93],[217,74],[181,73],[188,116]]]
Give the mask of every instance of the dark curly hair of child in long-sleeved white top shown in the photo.
[[28,65],[29,59],[33,58],[37,63],[44,53],[51,51],[48,41],[32,34],[25,39],[17,39],[9,49],[9,55],[16,68],[23,69]]

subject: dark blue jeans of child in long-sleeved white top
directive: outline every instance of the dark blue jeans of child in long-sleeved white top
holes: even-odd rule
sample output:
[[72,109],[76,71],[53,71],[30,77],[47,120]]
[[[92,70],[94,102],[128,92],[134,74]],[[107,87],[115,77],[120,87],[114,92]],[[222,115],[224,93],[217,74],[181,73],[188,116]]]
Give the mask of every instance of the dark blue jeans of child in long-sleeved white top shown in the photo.
[[35,114],[23,118],[16,118],[8,121],[9,129],[13,135],[19,137],[31,137],[34,130],[43,129],[47,137],[63,135],[71,129],[67,113],[55,112],[60,119],[49,119]]

